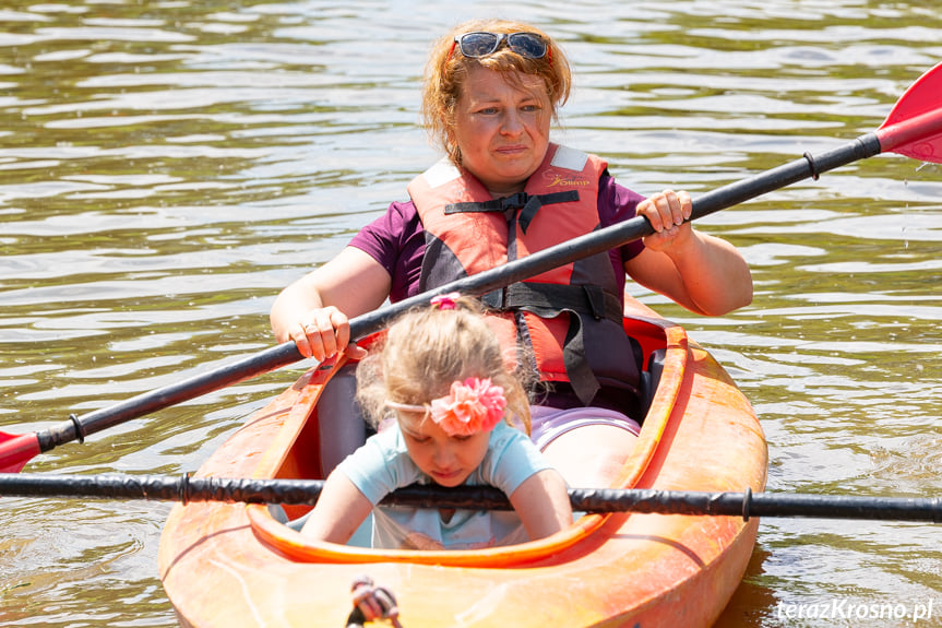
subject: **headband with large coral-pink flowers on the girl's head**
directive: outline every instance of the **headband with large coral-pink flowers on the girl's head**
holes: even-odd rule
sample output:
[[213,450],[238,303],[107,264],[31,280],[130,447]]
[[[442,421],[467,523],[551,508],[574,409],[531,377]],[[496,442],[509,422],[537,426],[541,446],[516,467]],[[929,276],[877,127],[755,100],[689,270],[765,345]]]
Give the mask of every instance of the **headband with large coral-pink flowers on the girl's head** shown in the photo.
[[506,398],[503,388],[491,384],[490,379],[469,377],[464,382],[452,382],[449,394],[433,399],[430,404],[412,405],[386,400],[386,405],[430,415],[449,436],[470,436],[493,429],[503,418]]

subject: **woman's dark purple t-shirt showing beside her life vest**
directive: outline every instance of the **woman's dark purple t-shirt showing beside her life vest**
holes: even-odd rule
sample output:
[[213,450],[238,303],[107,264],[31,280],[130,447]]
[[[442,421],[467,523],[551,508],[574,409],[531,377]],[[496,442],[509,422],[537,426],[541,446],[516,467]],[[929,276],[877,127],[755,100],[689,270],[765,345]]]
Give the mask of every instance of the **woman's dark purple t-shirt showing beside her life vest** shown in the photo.
[[[642,200],[644,197],[619,186],[610,175],[603,175],[598,189],[598,217],[601,227],[633,218],[634,210]],[[360,229],[349,246],[365,251],[386,269],[392,277],[392,303],[418,294],[426,237],[412,201],[392,203],[386,213]],[[624,289],[624,262],[643,249],[642,241],[635,240],[609,251],[619,283],[619,295]]]

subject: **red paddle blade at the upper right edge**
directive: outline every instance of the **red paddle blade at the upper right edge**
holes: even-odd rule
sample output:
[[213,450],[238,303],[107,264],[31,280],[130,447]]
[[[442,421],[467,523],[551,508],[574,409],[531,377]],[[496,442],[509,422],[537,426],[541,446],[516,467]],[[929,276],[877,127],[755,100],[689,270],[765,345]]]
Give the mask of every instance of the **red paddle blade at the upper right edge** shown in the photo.
[[906,90],[877,137],[882,152],[942,164],[942,63]]

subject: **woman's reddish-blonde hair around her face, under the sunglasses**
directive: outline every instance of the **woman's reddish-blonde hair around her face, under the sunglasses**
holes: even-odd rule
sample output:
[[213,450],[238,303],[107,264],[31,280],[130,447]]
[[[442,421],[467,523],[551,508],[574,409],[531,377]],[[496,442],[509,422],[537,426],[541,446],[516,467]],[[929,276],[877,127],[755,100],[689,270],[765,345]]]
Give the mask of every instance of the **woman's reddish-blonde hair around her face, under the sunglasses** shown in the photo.
[[[475,31],[536,33],[546,42],[547,54],[540,59],[527,59],[506,46],[501,46],[487,57],[468,58],[461,54],[460,47],[455,45],[455,37]],[[509,81],[514,80],[514,72],[542,79],[553,119],[558,119],[559,107],[569,99],[572,84],[565,55],[556,42],[539,28],[512,20],[477,20],[455,26],[451,33],[432,45],[422,90],[422,117],[426,129],[432,142],[444,150],[455,166],[461,166],[462,162],[461,151],[452,141],[455,130],[455,106],[467,82],[468,69],[475,66],[500,72]]]

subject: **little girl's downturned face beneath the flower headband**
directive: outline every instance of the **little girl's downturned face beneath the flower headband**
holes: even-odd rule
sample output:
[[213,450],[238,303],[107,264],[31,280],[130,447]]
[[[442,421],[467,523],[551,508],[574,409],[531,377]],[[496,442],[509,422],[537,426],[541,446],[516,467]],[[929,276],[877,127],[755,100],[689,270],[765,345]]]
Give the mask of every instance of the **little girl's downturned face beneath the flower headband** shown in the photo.
[[472,436],[449,436],[431,419],[400,416],[400,430],[409,457],[441,486],[458,486],[477,469],[487,453],[490,431]]

